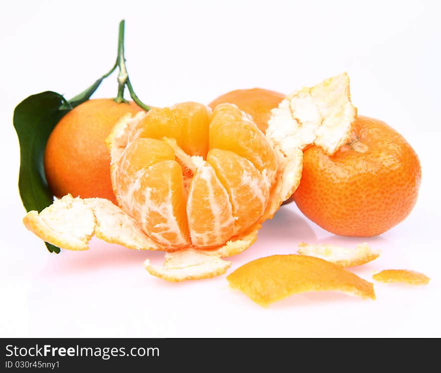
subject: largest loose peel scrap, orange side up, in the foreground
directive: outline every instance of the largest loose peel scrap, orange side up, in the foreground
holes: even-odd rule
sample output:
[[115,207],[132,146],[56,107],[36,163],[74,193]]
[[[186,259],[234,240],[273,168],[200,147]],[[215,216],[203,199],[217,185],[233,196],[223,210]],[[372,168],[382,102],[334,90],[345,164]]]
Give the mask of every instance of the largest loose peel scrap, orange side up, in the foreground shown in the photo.
[[342,291],[375,299],[373,284],[337,264],[307,255],[272,255],[242,265],[227,279],[256,303],[268,306],[292,294]]

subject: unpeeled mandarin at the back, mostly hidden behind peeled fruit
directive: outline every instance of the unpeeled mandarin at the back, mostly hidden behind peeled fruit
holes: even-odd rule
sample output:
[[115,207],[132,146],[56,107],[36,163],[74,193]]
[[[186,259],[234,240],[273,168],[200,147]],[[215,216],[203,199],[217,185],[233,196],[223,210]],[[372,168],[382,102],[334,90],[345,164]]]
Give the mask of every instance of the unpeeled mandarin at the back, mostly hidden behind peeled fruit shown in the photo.
[[212,100],[208,106],[212,109],[220,103],[234,103],[253,118],[262,132],[268,127],[271,109],[285,98],[285,94],[263,88],[236,89]]

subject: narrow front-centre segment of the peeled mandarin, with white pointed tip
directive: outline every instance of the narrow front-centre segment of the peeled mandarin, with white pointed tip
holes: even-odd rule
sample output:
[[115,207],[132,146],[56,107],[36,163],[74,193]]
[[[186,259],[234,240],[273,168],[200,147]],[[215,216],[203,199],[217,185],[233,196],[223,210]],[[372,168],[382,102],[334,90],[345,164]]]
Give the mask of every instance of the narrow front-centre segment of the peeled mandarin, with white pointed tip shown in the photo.
[[193,157],[196,172],[188,190],[187,217],[191,242],[195,246],[220,245],[234,234],[230,197],[213,167]]

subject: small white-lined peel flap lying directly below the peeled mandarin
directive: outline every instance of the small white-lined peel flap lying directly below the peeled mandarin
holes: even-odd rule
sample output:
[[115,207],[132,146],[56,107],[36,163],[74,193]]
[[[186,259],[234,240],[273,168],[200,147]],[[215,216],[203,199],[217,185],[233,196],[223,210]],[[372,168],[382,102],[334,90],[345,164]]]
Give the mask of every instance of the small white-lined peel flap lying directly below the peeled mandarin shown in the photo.
[[161,266],[150,264],[149,259],[144,261],[144,267],[150,274],[174,282],[218,276],[225,273],[230,265],[230,261],[215,253],[194,248],[167,252]]

